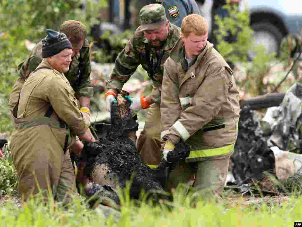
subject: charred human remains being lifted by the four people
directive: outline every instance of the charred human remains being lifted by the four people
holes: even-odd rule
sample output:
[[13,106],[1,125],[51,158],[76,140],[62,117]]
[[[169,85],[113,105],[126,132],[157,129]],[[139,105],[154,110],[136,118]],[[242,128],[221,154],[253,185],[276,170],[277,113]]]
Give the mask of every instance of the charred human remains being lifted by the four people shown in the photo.
[[[129,93],[122,91],[118,94],[117,104],[111,104],[111,129],[106,138],[84,144],[80,161],[85,163],[83,175],[88,179],[88,184],[82,182],[89,185],[86,186],[86,194],[92,196],[102,191],[102,196],[119,204],[116,187],[124,188],[129,181],[130,197],[133,199],[139,199],[142,190],[152,199],[171,199],[164,191],[166,179],[178,161],[189,155],[189,146],[185,142],[175,146],[175,163],[163,160],[153,169],[143,164],[136,148],[137,117],[133,117],[125,95]],[[78,178],[83,179],[83,176]]]

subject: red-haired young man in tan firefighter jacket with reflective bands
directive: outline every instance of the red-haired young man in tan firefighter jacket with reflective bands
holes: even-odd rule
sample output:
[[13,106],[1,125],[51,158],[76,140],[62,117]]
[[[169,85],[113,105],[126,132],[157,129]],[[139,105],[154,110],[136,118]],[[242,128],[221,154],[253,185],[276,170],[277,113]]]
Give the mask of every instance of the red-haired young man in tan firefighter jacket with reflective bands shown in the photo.
[[191,145],[168,187],[194,182],[196,189],[220,196],[237,137],[238,91],[229,65],[207,41],[207,22],[200,15],[184,18],[182,38],[165,62],[161,120],[165,160],[180,140]]

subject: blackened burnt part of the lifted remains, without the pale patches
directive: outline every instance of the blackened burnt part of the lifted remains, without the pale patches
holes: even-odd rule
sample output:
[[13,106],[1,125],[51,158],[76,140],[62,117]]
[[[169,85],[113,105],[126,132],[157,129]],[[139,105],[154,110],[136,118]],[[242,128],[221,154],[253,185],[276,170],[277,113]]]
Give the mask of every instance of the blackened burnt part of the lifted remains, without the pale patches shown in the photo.
[[[142,189],[147,192],[152,191],[150,196],[153,199],[163,198],[161,195],[164,195],[169,171],[175,168],[180,159],[189,155],[190,147],[185,142],[177,143],[175,150],[169,153],[172,163],[163,160],[159,167],[154,169],[143,164],[135,144],[127,137],[129,132],[135,132],[138,128],[136,117],[133,118],[129,110],[130,103],[128,102],[127,105],[126,113],[123,113],[124,118],[121,119],[118,114],[123,110],[118,110],[117,104],[111,104],[111,130],[106,139],[100,138],[97,142],[84,143],[81,160],[86,161],[85,175],[92,176],[95,166],[105,164],[109,172],[117,174],[119,186],[125,187],[126,182],[132,180],[130,187],[132,198],[138,199]],[[164,198],[167,199],[166,196]]]

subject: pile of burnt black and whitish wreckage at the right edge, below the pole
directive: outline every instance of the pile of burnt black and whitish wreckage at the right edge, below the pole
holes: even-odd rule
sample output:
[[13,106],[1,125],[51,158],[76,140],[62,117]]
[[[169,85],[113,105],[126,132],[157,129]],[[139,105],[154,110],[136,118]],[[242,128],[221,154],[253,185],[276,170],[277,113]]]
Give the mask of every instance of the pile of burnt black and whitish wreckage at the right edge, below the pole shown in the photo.
[[231,157],[232,184],[241,192],[255,184],[272,194],[302,189],[301,113],[299,83],[288,89],[280,106],[269,108],[264,118],[248,105],[243,107]]

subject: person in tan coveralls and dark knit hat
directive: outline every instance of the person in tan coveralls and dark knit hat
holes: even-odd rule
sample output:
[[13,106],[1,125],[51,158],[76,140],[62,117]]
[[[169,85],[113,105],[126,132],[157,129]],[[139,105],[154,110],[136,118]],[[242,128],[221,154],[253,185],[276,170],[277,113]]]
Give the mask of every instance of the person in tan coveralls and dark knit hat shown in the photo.
[[63,74],[69,70],[72,46],[65,34],[50,29],[46,33],[43,61],[25,81],[12,113],[16,125],[10,148],[24,200],[41,190],[44,196],[51,192],[57,201],[70,202],[75,174],[68,148],[82,150],[75,135],[87,142],[95,139],[89,109],[79,110]]

